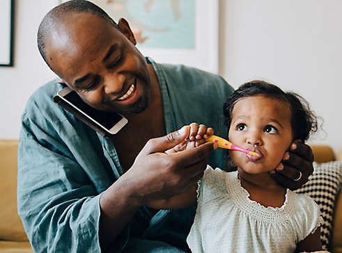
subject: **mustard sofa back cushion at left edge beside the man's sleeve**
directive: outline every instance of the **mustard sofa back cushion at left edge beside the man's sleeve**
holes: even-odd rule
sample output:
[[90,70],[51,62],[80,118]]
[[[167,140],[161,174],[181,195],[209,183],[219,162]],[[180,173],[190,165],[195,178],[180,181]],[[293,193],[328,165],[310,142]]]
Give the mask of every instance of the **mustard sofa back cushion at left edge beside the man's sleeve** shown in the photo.
[[0,240],[26,240],[17,215],[17,140],[0,140]]

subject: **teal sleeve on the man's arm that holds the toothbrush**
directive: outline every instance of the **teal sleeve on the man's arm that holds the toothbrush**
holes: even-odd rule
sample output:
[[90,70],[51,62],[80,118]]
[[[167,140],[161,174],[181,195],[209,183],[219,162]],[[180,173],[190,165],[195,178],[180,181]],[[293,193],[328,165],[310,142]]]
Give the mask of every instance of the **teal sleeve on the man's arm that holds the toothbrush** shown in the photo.
[[[100,193],[48,122],[22,121],[17,204],[33,250],[101,252]],[[115,252],[127,238],[126,227],[114,242]]]

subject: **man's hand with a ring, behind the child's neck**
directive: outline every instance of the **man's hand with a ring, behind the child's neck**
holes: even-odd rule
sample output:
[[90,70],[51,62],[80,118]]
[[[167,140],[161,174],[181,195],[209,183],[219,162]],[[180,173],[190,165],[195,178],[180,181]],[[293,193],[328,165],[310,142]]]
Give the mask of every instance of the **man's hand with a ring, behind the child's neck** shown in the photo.
[[309,145],[296,140],[283,156],[283,161],[270,172],[270,175],[282,186],[297,190],[308,181],[313,173],[313,153]]

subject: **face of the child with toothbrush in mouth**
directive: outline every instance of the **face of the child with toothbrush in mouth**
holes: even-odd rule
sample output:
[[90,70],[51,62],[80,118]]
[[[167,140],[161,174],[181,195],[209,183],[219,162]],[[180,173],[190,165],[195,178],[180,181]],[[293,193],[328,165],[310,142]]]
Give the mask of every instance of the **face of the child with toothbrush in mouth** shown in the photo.
[[232,114],[229,140],[260,154],[231,151],[235,165],[251,174],[274,170],[293,140],[288,104],[263,95],[243,97]]

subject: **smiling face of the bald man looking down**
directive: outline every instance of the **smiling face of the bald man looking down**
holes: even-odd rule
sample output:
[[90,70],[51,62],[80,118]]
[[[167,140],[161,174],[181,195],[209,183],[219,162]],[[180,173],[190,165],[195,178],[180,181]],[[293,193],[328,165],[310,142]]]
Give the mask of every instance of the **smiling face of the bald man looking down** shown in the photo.
[[47,39],[52,70],[90,106],[139,113],[148,106],[150,78],[129,26],[119,31],[91,13],[72,13]]

